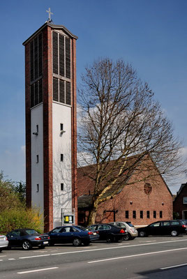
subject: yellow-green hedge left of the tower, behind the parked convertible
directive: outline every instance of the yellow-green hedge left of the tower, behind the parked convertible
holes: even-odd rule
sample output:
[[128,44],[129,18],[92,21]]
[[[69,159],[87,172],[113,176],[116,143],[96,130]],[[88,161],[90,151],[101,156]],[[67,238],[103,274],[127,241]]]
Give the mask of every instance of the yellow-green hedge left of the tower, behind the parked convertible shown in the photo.
[[40,209],[8,209],[0,213],[0,234],[26,227],[43,232],[43,225],[44,219]]

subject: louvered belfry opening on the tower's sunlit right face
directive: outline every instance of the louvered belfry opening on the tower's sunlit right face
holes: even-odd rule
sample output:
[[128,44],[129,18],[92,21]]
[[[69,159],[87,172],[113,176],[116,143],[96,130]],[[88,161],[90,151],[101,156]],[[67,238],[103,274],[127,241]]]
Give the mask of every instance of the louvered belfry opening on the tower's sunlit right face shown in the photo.
[[70,38],[52,32],[53,100],[71,105]]

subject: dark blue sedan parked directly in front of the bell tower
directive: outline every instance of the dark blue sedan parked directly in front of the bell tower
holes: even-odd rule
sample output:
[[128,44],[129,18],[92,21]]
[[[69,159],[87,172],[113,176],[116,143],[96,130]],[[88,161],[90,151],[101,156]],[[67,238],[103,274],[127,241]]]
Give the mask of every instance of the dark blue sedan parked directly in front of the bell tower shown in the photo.
[[82,243],[89,245],[91,241],[96,241],[99,238],[98,232],[74,225],[55,227],[48,234],[51,245],[55,243],[73,243],[73,246],[80,246]]

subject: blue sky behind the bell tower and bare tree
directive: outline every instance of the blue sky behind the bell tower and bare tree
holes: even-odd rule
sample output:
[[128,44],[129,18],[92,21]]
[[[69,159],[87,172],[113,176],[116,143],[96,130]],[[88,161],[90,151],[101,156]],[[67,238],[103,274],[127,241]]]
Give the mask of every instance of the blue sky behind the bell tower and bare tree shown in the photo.
[[[47,20],[77,35],[77,86],[84,67],[98,57],[122,58],[149,83],[187,156],[187,1],[33,0],[1,3],[0,170],[25,181],[24,47]],[[177,179],[172,193],[187,178]]]

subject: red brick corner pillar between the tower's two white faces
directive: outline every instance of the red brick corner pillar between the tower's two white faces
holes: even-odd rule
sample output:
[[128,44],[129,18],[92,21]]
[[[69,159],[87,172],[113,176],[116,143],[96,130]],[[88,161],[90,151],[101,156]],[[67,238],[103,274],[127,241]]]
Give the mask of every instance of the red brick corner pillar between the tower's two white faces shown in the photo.
[[53,228],[52,29],[43,29],[43,190],[45,232]]

